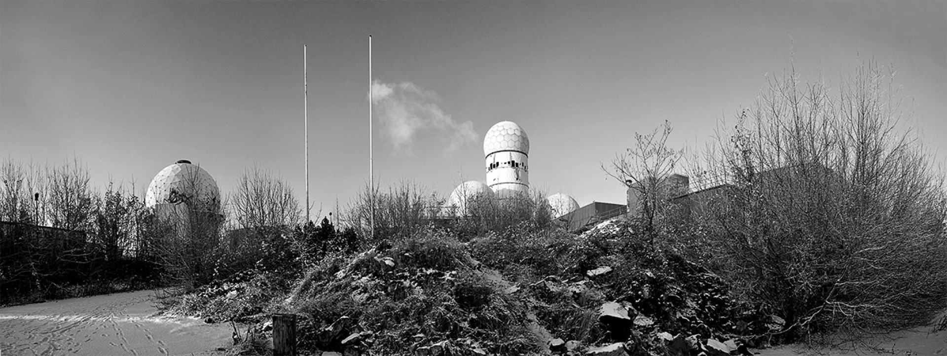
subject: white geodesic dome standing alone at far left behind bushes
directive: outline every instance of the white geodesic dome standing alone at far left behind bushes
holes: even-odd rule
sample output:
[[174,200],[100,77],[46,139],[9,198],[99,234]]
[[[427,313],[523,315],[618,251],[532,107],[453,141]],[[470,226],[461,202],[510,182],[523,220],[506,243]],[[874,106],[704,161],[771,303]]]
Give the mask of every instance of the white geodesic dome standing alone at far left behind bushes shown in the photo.
[[145,206],[187,204],[198,210],[216,211],[221,191],[206,170],[189,163],[175,163],[161,169],[145,194]]

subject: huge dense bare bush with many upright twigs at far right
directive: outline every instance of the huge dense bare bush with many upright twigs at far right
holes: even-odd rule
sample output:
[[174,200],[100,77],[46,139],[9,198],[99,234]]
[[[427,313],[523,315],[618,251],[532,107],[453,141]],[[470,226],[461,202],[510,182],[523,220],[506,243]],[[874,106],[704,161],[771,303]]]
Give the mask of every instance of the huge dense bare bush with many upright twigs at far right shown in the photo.
[[733,187],[695,223],[790,338],[904,328],[944,306],[943,179],[902,130],[892,77],[869,62],[835,94],[795,72],[772,80],[710,154]]

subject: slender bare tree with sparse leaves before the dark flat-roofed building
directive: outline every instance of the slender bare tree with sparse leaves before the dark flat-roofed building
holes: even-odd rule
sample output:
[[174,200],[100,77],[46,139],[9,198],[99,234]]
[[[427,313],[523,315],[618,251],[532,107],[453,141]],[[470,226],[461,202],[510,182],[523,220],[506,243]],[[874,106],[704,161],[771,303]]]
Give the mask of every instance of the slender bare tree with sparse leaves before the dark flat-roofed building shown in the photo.
[[674,166],[684,154],[683,150],[668,148],[670,132],[670,122],[666,120],[650,134],[635,133],[634,147],[616,153],[611,166],[601,165],[605,173],[637,194],[638,206],[628,206],[628,210],[632,214],[637,212],[647,232],[654,230],[655,220],[668,198],[662,194],[667,188],[665,179],[674,172]]

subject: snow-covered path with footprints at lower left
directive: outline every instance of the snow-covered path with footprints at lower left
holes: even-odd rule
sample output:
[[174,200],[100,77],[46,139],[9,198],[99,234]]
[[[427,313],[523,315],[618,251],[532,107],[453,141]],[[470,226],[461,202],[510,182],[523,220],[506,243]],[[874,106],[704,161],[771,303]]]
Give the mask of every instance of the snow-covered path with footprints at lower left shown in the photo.
[[0,309],[0,355],[211,354],[232,343],[226,324],[153,316],[140,291]]

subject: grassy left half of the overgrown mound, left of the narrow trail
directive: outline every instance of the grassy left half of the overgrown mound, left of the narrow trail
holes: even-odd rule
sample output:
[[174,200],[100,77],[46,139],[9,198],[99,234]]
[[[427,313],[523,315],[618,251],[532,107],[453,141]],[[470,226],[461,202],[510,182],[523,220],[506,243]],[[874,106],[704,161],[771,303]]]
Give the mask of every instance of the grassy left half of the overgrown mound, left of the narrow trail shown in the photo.
[[434,230],[326,260],[288,301],[304,317],[299,346],[373,354],[538,352],[527,304],[479,268],[456,237]]

